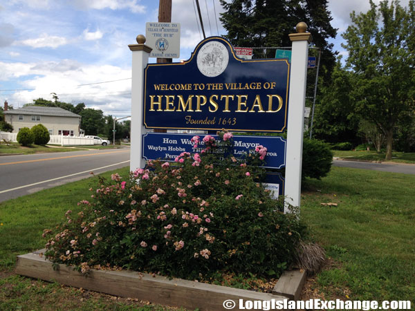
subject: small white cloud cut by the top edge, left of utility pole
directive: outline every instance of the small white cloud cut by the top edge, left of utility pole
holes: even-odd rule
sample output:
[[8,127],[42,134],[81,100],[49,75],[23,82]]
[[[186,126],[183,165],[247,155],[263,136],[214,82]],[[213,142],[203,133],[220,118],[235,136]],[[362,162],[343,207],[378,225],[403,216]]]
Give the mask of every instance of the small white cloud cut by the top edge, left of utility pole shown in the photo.
[[133,13],[144,13],[146,6],[138,4],[137,0],[75,0],[75,6],[83,9],[111,10],[129,9]]

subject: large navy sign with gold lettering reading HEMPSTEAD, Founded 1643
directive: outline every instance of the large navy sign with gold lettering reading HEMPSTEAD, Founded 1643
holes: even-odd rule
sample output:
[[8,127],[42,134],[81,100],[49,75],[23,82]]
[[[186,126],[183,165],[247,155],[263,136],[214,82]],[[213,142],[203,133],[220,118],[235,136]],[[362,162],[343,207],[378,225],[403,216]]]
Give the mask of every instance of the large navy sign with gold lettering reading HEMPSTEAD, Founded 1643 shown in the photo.
[[290,64],[244,60],[210,37],[187,62],[145,68],[143,123],[149,129],[283,132]]

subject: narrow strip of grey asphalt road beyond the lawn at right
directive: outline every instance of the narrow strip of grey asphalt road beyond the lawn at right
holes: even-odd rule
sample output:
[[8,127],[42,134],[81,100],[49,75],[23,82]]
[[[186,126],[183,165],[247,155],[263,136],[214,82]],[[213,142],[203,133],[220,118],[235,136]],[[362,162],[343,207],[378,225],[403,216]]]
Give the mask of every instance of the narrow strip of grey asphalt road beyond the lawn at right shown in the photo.
[[335,167],[351,167],[353,169],[371,169],[374,171],[389,171],[393,173],[415,174],[415,164],[358,162],[347,160],[333,160]]

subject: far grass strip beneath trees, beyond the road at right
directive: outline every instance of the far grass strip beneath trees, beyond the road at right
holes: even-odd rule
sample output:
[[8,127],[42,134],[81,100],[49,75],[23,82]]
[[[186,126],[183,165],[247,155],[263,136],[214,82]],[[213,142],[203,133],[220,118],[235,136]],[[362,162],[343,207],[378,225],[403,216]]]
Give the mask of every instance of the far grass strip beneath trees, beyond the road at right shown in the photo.
[[334,156],[344,159],[367,160],[367,161],[385,161],[397,163],[412,163],[415,164],[415,153],[410,152],[393,152],[390,161],[385,160],[385,153],[376,151],[342,151],[333,150]]

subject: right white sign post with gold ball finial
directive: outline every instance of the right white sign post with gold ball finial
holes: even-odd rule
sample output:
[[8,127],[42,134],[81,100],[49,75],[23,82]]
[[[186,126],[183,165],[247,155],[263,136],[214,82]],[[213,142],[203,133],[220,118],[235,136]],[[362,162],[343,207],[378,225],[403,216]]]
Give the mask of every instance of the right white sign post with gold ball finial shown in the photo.
[[306,32],[306,23],[297,23],[295,28],[297,33],[289,35],[293,42],[293,48],[291,52],[290,93],[288,102],[286,181],[284,193],[286,196],[286,204],[284,206],[284,213],[290,212],[289,205],[300,207],[308,43],[312,39],[311,33]]

